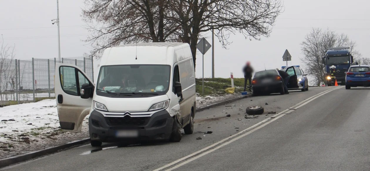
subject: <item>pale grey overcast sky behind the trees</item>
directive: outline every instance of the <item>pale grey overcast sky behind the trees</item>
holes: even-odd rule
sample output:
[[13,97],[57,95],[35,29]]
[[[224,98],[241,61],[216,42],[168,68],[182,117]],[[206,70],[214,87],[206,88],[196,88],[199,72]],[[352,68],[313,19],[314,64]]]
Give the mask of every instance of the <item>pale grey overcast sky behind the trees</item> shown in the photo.
[[[88,35],[81,27],[83,1],[59,0],[62,58],[82,57],[89,51],[81,41]],[[246,61],[251,61],[256,71],[265,69],[265,65],[266,69],[279,68],[286,65],[282,61],[285,49],[292,55],[292,65],[300,65],[300,43],[312,27],[349,35],[357,42],[356,49],[368,57],[369,4],[364,0],[284,0],[285,11],[277,18],[269,38],[249,41],[241,34],[232,35],[228,49],[222,49],[215,40],[215,76],[228,78],[233,72],[234,77],[242,77]],[[0,0],[0,18],[0,34],[6,44],[16,45],[17,59],[58,58],[57,25],[51,24],[57,18],[56,0]],[[208,41],[211,43],[211,38]],[[205,77],[211,77],[211,57],[209,50],[204,57]],[[202,77],[201,55],[197,55],[196,77]]]

